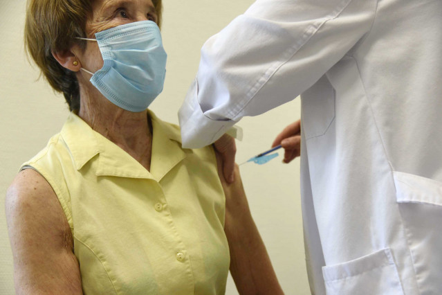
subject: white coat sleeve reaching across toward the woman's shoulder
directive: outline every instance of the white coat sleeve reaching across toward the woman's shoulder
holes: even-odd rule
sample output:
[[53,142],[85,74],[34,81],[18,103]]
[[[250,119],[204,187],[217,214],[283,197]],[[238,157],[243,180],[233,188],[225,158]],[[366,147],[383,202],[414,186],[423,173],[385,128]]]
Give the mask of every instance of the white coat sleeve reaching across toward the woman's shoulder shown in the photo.
[[184,147],[293,100],[363,42],[377,0],[258,0],[201,49],[178,112]]

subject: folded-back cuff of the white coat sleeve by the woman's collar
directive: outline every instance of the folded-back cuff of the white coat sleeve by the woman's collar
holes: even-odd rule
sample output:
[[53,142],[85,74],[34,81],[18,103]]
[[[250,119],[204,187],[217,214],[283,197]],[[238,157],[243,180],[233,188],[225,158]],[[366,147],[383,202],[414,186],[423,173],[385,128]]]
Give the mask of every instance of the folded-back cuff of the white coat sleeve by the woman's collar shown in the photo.
[[198,101],[197,80],[187,91],[185,101],[178,111],[178,120],[184,148],[210,145],[236,123],[234,120],[212,120],[205,116]]

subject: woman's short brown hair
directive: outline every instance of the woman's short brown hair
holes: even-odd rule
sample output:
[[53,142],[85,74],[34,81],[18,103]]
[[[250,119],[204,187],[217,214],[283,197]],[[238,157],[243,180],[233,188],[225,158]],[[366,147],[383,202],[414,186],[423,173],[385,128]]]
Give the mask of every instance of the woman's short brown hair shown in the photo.
[[[160,26],[162,3],[153,0]],[[62,92],[69,109],[80,109],[80,88],[75,73],[61,66],[53,52],[71,48],[75,37],[86,37],[86,19],[93,0],[28,0],[25,46],[55,91]]]

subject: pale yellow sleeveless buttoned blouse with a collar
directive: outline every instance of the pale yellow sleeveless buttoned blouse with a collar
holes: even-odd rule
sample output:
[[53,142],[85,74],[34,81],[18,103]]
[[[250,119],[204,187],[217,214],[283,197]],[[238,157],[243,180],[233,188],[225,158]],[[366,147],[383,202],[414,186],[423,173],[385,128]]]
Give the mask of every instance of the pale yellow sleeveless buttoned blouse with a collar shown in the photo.
[[71,226],[84,294],[224,294],[225,197],[212,147],[181,148],[149,111],[151,171],[71,113],[22,169],[52,186]]

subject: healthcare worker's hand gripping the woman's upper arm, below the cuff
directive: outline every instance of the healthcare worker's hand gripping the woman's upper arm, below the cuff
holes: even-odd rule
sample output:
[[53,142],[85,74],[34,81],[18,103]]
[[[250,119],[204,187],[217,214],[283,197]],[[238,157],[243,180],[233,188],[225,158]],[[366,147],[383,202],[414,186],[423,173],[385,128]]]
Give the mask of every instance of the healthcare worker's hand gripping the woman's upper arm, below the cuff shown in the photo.
[[214,147],[223,159],[223,174],[225,180],[232,184],[234,181],[234,156],[237,153],[237,145],[234,138],[228,134],[224,134],[214,142]]

